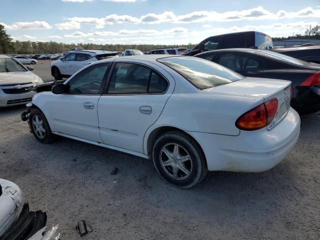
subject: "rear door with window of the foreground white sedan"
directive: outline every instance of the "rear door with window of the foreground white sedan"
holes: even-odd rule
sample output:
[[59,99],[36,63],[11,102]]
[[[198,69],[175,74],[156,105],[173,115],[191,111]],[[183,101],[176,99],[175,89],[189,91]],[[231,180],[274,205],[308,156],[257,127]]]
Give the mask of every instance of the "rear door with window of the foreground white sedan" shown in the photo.
[[153,63],[117,59],[98,102],[105,144],[143,152],[143,136],[174,89],[170,74]]

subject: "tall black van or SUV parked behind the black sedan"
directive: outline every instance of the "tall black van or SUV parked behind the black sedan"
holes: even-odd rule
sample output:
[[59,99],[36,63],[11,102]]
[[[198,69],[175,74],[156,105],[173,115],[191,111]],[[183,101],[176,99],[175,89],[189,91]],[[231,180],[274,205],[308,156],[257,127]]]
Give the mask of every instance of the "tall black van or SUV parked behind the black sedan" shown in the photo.
[[202,51],[210,51],[224,48],[257,47],[260,49],[270,49],[273,47],[272,38],[259,31],[242,31],[210,36],[202,40],[189,52],[182,55],[193,56]]

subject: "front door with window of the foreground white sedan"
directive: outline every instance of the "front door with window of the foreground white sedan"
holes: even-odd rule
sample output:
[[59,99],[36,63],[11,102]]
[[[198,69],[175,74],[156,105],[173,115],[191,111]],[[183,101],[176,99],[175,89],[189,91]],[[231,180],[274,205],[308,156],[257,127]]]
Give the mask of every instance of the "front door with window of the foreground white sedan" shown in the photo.
[[103,80],[111,63],[93,64],[71,77],[68,91],[51,101],[51,115],[58,132],[101,142],[97,105]]

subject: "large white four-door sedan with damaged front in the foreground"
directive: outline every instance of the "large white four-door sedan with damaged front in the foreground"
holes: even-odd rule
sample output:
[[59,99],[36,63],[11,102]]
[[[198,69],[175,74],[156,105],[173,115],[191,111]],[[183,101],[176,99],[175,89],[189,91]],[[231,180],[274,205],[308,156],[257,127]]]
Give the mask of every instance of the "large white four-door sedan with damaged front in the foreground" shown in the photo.
[[183,188],[208,170],[265,171],[300,131],[290,81],[244,77],[189,56],[100,60],[27,106],[22,120],[40,142],[61,135],[152,158]]

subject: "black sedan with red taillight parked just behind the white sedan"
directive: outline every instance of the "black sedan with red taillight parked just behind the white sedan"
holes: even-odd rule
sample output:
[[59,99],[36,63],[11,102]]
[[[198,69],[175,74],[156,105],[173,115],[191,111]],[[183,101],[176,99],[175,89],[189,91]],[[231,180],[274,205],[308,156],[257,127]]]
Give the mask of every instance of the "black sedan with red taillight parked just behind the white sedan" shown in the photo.
[[214,61],[244,76],[290,80],[291,106],[300,114],[320,110],[320,64],[250,48],[205,51],[195,56]]

